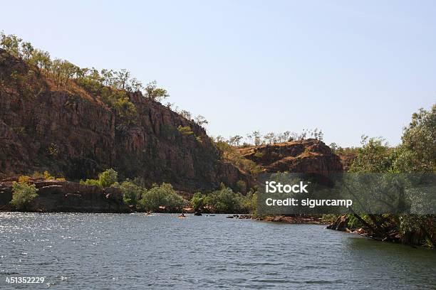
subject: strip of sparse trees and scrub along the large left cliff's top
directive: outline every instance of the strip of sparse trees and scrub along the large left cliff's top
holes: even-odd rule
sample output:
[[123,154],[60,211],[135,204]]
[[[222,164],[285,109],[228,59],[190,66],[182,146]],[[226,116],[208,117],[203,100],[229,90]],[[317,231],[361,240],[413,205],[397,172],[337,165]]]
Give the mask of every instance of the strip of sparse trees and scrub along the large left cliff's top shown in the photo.
[[[69,90],[74,85],[78,85],[91,95],[99,96],[100,100],[113,109],[120,119],[118,129],[123,129],[129,124],[135,124],[137,110],[135,104],[130,100],[131,94],[140,93],[143,97],[155,102],[162,102],[170,97],[167,90],[157,87],[156,80],[143,85],[126,69],[117,71],[109,69],[97,70],[93,67],[80,68],[68,60],[61,58],[52,60],[50,53],[47,51],[34,48],[30,42],[23,41],[13,34],[6,35],[3,31],[0,32],[0,48],[36,68],[36,72],[48,77],[58,90]],[[19,76],[14,75],[13,77]],[[18,81],[20,82],[20,80]],[[174,104],[167,102],[166,106],[172,109]],[[174,112],[189,121],[196,122],[199,126],[208,123],[202,115],[198,115],[192,120],[190,112],[180,110],[178,107],[175,107]]]

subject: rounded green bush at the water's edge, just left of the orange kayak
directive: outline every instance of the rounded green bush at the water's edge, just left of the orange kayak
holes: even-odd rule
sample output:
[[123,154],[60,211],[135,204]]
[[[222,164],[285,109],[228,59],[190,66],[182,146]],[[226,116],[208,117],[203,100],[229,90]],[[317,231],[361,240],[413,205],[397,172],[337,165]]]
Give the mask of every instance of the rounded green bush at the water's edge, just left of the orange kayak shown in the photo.
[[178,195],[170,183],[162,183],[161,186],[154,184],[150,190],[142,193],[139,200],[140,208],[151,211],[180,211],[185,204],[185,200]]

